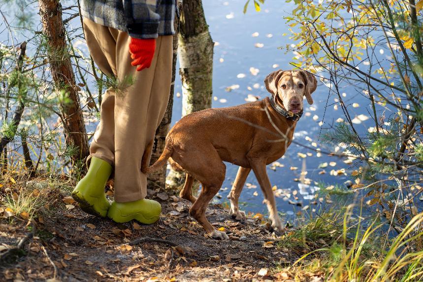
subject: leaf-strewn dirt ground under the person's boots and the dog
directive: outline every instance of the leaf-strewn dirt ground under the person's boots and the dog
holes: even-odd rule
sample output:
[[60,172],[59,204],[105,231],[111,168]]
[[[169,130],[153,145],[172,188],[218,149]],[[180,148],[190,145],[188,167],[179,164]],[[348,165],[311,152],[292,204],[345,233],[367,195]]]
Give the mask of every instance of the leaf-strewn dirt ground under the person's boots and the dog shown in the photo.
[[[1,188],[3,198],[23,189],[15,186]],[[32,221],[1,208],[0,254],[28,240],[0,263],[0,281],[279,280],[277,266],[298,257],[276,246],[277,235],[260,214],[240,222],[222,206],[210,206],[210,222],[230,237],[217,241],[189,215],[189,202],[168,191],[149,189],[148,197],[162,204],[162,216],[155,224],[139,225],[82,212],[69,197],[72,185],[46,188],[32,180],[25,186],[42,194],[43,206]],[[127,245],[139,238],[153,239]]]

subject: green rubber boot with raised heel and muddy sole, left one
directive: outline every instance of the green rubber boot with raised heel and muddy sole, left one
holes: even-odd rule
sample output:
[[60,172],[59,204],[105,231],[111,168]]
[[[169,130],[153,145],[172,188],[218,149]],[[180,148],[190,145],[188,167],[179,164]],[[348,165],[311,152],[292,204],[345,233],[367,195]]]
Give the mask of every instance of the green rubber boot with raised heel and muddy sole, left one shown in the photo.
[[112,166],[102,159],[92,157],[88,173],[79,180],[72,191],[73,199],[84,212],[106,217],[110,207],[104,187],[112,173]]

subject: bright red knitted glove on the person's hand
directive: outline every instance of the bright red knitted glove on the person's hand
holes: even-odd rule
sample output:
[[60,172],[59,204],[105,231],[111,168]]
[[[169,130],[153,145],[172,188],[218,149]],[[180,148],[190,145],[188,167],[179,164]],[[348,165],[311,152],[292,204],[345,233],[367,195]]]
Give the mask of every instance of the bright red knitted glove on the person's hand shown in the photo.
[[156,39],[138,39],[130,38],[129,52],[133,59],[132,66],[138,66],[136,70],[140,71],[145,68],[150,68],[153,60],[154,50],[156,49]]

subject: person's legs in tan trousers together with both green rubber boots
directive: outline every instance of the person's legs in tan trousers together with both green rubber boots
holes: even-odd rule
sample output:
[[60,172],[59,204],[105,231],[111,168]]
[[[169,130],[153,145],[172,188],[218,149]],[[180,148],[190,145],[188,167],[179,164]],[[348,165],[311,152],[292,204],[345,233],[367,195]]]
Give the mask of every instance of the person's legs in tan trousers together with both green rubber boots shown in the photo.
[[[104,95],[100,123],[90,146],[89,172],[72,196],[86,212],[104,216],[98,206],[104,208],[102,204],[107,200],[104,193],[97,196],[104,189],[114,164],[115,202],[107,215],[117,222],[136,219],[153,223],[160,216],[161,206],[144,199],[147,187],[146,175],[141,173],[141,159],[145,146],[154,139],[169,99],[172,36],[159,36],[150,68],[136,71],[130,64],[127,33],[87,19],[84,19],[84,32],[94,61],[103,72],[115,76],[117,85]],[[86,195],[87,190],[95,191],[96,197]]]

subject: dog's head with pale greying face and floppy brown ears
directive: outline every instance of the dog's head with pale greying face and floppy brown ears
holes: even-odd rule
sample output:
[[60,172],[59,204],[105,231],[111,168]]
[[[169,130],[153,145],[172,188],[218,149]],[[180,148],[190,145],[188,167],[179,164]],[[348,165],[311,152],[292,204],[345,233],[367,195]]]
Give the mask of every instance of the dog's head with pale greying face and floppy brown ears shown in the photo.
[[317,80],[313,74],[303,70],[276,70],[264,79],[267,91],[275,101],[288,111],[298,113],[303,109],[303,97],[313,104],[311,93],[316,90]]

